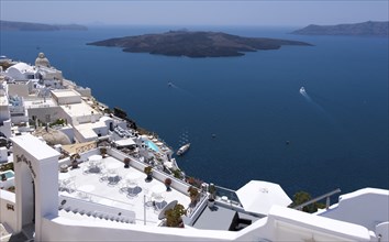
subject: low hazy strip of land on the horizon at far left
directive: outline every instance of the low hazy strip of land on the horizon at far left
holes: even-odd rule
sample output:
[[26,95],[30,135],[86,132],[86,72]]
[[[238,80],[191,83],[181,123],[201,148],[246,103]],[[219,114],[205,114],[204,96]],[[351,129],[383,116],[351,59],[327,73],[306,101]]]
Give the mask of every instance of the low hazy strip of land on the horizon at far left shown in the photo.
[[88,28],[78,24],[45,24],[0,20],[1,31],[86,31]]

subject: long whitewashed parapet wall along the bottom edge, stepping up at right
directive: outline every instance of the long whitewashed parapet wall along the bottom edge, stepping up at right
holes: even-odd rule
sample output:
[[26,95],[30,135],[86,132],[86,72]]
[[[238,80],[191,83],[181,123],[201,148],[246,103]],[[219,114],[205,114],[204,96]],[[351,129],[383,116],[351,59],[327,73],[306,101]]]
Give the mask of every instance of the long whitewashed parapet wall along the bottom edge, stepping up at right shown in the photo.
[[53,217],[43,220],[45,241],[370,241],[366,228],[289,208],[237,231],[147,227]]

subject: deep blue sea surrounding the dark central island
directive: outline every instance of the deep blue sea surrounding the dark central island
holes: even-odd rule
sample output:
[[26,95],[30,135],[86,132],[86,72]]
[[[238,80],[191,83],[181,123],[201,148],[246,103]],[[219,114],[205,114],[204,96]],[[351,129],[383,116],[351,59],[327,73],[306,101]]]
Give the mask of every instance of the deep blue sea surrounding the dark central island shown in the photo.
[[34,63],[44,52],[67,79],[124,109],[174,148],[190,142],[178,164],[208,183],[237,189],[252,179],[268,180],[290,196],[389,188],[388,38],[289,34],[298,28],[191,26],[314,46],[188,58],[86,45],[177,29],[0,32],[0,55]]

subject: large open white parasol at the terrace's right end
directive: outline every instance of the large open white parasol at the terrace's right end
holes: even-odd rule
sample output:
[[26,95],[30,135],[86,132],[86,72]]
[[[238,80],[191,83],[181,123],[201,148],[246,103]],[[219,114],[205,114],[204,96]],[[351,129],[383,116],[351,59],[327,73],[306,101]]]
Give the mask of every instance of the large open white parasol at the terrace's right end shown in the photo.
[[236,190],[245,211],[268,215],[271,206],[287,207],[292,202],[284,189],[274,183],[252,180]]

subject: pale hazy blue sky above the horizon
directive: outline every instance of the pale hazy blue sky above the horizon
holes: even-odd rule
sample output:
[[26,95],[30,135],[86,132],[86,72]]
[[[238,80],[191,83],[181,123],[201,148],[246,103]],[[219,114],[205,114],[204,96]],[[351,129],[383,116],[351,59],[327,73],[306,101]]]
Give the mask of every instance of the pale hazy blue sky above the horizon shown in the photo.
[[388,0],[0,0],[0,19],[40,23],[301,25],[387,21]]

